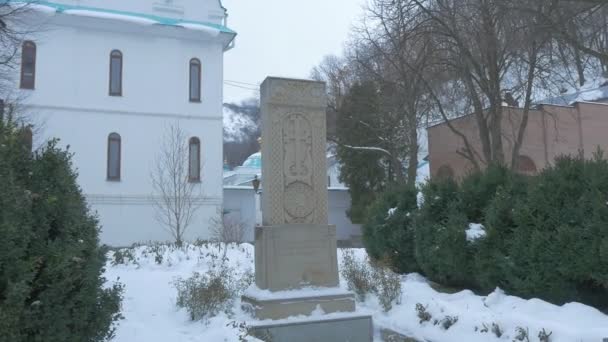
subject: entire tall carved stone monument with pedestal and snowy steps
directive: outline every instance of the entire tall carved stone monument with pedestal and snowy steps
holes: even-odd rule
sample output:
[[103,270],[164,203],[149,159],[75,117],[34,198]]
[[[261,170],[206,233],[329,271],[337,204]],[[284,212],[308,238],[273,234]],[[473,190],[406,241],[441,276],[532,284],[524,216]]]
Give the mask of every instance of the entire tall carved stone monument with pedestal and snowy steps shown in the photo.
[[338,284],[336,227],[327,222],[325,107],[322,82],[262,83],[263,226],[255,228],[255,286],[243,307],[278,320],[252,327],[273,342],[372,339],[371,317],[355,315],[354,295]]

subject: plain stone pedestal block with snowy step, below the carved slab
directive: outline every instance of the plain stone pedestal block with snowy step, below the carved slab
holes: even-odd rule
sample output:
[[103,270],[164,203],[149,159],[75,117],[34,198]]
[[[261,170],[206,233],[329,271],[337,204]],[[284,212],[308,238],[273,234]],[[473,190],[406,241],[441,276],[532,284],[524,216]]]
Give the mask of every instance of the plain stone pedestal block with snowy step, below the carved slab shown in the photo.
[[[285,224],[255,229],[257,288],[243,296],[259,319],[355,311],[352,293],[338,287],[336,227]],[[264,291],[265,290],[265,291]]]

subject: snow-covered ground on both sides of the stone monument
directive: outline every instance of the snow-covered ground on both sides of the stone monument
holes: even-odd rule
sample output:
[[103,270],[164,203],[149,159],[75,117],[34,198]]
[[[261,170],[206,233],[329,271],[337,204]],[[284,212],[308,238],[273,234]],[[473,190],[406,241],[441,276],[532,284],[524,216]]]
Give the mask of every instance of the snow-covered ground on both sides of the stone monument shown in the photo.
[[[341,259],[342,253],[338,252]],[[365,258],[363,249],[355,253],[358,258]],[[173,281],[177,277],[188,278],[193,272],[204,273],[208,263],[222,254],[223,250],[213,245],[189,245],[182,249],[142,246],[132,250],[131,260],[135,262],[113,265],[109,261],[105,272],[108,281],[119,279],[125,284],[125,319],[120,322],[114,341],[239,341],[241,332],[233,328],[231,322],[256,323],[240,309],[239,299],[230,317],[222,314],[206,324],[190,321],[186,311],[175,305]],[[114,259],[113,252],[109,256],[110,260]],[[226,256],[238,272],[253,271],[253,246],[231,245]],[[129,259],[129,256],[125,258]],[[345,286],[341,279],[341,287]],[[538,333],[542,329],[551,333],[551,342],[602,342],[602,338],[608,338],[608,316],[578,303],[556,306],[538,299],[508,296],[499,289],[489,296],[477,296],[470,291],[439,293],[417,274],[402,277],[402,291],[400,304],[388,313],[382,312],[373,296],[357,303],[357,310],[372,314],[376,329],[387,327],[434,342],[513,341],[518,327],[529,332],[529,341],[539,341]],[[415,310],[418,303],[432,316],[422,324]],[[448,330],[434,324],[446,316],[457,317],[458,321]],[[492,332],[493,323],[503,331],[500,338]],[[487,332],[482,332],[486,330],[484,327]]]

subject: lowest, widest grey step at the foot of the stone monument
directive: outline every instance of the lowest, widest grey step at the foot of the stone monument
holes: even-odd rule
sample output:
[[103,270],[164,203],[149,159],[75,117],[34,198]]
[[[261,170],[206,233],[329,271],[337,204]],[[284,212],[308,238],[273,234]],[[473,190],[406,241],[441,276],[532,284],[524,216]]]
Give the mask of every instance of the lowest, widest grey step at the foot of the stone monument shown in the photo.
[[265,342],[372,342],[372,317],[296,320],[249,326],[249,334]]

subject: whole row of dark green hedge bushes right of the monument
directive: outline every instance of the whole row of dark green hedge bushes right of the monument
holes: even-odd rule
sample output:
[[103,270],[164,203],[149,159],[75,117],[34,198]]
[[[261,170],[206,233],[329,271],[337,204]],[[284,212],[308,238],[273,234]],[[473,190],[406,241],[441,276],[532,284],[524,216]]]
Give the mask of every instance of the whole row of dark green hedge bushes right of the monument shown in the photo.
[[[384,194],[368,212],[371,257],[447,286],[608,308],[608,162],[561,157],[538,176],[501,167]],[[388,214],[389,209],[391,215]],[[485,236],[467,240],[469,224]]]

